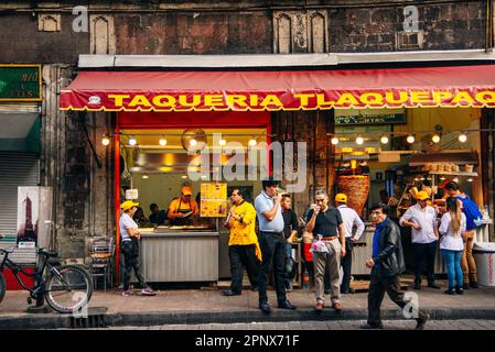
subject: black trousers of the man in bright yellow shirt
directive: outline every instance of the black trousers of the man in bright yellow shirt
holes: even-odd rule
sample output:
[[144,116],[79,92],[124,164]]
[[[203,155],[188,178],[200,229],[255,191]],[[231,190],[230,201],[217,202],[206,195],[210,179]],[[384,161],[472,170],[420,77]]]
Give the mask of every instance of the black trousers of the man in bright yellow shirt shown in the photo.
[[258,276],[260,263],[256,257],[256,246],[230,245],[228,248],[228,257],[230,260],[232,283],[230,289],[236,293],[243,292],[243,276],[246,267],[251,287],[258,287]]

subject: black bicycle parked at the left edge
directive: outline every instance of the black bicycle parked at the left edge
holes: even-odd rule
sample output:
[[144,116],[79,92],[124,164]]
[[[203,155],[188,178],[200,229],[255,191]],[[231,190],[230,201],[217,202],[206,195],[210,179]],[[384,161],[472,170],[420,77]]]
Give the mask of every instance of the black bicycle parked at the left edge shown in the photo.
[[[3,235],[0,234],[0,239]],[[6,295],[6,278],[3,270],[7,266],[12,271],[18,283],[30,293],[28,304],[32,300],[39,301],[44,296],[50,307],[62,314],[77,312],[86,307],[93,295],[93,279],[88,272],[77,265],[54,265],[50,258],[56,257],[56,252],[39,249],[41,265],[36,266],[33,274],[25,272],[21,265],[12,262],[9,254],[15,248],[0,249],[3,260],[0,264],[0,302]],[[20,277],[19,273],[34,278],[33,288],[29,288]]]

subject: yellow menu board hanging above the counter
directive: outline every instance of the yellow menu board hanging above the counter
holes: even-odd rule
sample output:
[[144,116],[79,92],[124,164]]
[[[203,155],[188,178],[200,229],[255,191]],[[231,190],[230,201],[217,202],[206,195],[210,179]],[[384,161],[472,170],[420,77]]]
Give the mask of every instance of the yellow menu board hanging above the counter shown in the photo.
[[227,184],[201,184],[201,217],[224,218],[227,216]]

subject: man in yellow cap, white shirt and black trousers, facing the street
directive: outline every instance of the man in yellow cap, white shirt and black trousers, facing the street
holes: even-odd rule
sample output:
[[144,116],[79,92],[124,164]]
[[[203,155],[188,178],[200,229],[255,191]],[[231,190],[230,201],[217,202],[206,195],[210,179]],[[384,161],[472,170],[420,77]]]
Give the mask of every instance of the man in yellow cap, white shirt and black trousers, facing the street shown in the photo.
[[427,256],[428,287],[440,287],[434,283],[434,257],[439,229],[437,210],[428,206],[430,196],[424,190],[416,194],[417,204],[411,206],[400,218],[401,227],[411,228],[412,249],[415,252],[415,289],[421,289],[423,258]]

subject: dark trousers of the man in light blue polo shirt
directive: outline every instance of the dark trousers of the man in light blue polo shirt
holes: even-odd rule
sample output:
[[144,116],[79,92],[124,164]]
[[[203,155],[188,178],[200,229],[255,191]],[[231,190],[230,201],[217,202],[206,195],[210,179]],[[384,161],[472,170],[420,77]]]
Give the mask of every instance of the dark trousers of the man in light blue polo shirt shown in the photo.
[[259,232],[259,246],[261,248],[261,268],[259,271],[259,302],[267,302],[268,275],[273,267],[275,289],[279,304],[286,301],[286,240],[283,234],[277,232]]

